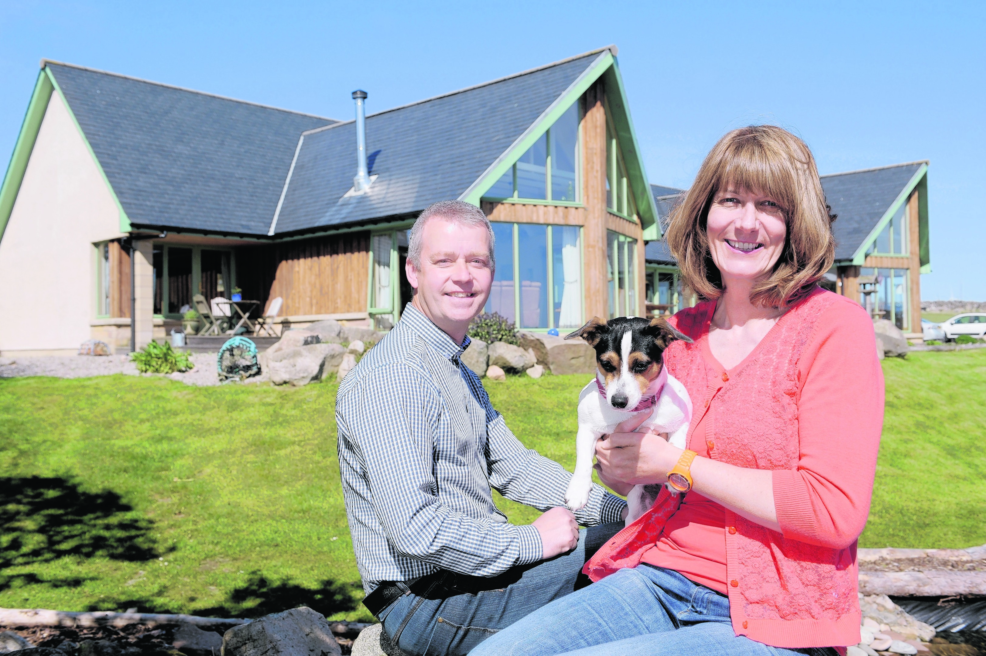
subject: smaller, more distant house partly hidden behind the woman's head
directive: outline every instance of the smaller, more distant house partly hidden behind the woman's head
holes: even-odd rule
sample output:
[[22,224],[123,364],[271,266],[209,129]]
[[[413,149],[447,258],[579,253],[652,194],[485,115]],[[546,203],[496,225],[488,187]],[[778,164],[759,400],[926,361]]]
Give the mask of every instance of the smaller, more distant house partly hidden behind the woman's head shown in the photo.
[[[931,272],[928,245],[928,162],[821,176],[825,199],[838,218],[835,263],[821,285],[848,296],[874,319],[886,319],[920,339],[921,274]],[[682,189],[652,184],[659,221]],[[646,303],[659,312],[694,304],[681,290],[677,265],[664,240],[648,243]]]

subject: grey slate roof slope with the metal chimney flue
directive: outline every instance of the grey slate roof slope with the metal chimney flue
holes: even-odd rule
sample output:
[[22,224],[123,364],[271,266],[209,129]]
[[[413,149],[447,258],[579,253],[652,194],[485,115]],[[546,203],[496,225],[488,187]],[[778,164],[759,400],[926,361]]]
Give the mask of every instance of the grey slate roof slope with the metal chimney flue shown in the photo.
[[371,175],[379,178],[360,196],[343,197],[356,174],[355,123],[306,133],[275,234],[406,215],[457,198],[603,55],[367,116]]

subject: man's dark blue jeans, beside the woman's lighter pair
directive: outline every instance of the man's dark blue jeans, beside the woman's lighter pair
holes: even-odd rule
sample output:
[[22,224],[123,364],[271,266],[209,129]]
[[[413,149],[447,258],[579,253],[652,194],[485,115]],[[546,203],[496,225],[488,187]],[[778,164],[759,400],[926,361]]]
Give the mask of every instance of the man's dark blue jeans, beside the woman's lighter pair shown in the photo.
[[588,586],[582,566],[622,528],[620,522],[583,529],[573,550],[499,576],[436,576],[430,591],[408,592],[381,611],[384,630],[414,656],[467,654],[528,613]]

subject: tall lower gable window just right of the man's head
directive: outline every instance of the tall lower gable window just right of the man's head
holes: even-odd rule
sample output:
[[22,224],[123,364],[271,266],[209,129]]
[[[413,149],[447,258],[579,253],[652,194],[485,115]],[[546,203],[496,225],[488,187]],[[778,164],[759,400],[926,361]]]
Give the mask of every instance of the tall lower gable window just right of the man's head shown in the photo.
[[486,312],[518,328],[579,328],[582,312],[581,228],[493,223],[496,272]]

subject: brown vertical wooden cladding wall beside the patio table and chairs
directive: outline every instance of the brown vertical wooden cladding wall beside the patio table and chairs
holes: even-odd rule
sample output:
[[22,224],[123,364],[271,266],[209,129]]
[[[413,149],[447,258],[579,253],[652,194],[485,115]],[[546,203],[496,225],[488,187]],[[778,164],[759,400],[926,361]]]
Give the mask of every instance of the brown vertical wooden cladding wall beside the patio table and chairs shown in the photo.
[[244,298],[284,299],[280,316],[367,311],[370,233],[315,237],[237,252]]

